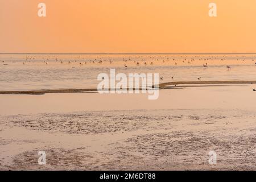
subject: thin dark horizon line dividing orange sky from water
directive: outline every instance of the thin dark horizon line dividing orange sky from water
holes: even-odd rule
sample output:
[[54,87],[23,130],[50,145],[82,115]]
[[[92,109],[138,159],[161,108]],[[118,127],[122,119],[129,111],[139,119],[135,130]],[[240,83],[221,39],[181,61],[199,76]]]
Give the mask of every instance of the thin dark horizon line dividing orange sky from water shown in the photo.
[[250,55],[250,54],[256,54],[256,52],[205,52],[205,53],[200,53],[200,52],[156,52],[156,53],[150,53],[150,52],[123,52],[123,53],[118,53],[118,52],[83,52],[83,53],[75,53],[75,52],[68,52],[68,53],[60,53],[60,52],[53,52],[53,53],[47,53],[47,52],[15,52],[15,53],[5,53],[5,52],[0,52],[0,55]]

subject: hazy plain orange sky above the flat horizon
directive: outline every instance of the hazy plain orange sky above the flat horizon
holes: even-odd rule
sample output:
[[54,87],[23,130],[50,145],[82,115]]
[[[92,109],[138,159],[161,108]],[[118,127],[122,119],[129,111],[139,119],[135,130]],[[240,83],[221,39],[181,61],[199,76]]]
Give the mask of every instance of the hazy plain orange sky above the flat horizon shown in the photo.
[[255,0],[0,0],[6,53],[256,52],[255,32]]

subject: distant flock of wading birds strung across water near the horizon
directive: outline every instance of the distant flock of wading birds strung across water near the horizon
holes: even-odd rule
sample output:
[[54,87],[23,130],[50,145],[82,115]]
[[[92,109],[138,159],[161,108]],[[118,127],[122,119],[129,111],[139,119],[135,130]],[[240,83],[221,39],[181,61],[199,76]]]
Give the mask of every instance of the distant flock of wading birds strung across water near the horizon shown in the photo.
[[[246,57],[245,55],[243,56],[233,56],[231,59],[232,60],[237,60],[240,62],[243,62],[245,60],[251,60],[254,62],[254,55],[251,55],[250,57]],[[187,57],[187,55],[181,55],[181,56],[170,56],[170,55],[166,55],[166,56],[159,56],[159,55],[150,55],[147,56],[147,58],[145,59],[145,55],[136,55],[136,56],[130,56],[130,57],[99,57],[97,56],[96,58],[92,58],[92,57],[81,57],[81,56],[77,56],[77,57],[73,57],[70,60],[67,59],[59,59],[57,56],[53,56],[53,55],[48,55],[48,56],[42,56],[42,57],[36,57],[35,55],[32,56],[26,56],[25,59],[23,59],[23,65],[26,65],[27,63],[33,63],[33,61],[39,61],[42,60],[44,64],[48,64],[49,61],[55,61],[57,63],[60,64],[72,64],[75,63],[77,65],[86,65],[86,64],[103,64],[103,63],[109,63],[112,64],[114,61],[123,61],[123,67],[125,69],[128,68],[127,63],[131,63],[131,66],[147,66],[147,65],[155,65],[155,64],[165,64],[167,62],[172,63],[173,65],[182,65],[182,64],[192,64],[194,61],[203,61],[204,64],[202,65],[202,67],[204,69],[207,69],[209,67],[209,61],[214,61],[214,60],[219,60],[219,61],[225,61],[230,59],[230,57],[228,58],[226,55],[220,56],[220,55],[211,55],[211,56],[205,56],[205,55],[196,55],[196,56],[191,56],[191,57]],[[14,61],[13,61],[14,62]],[[203,63],[202,62],[202,63]],[[8,65],[8,63],[5,63],[5,61],[2,61],[3,65]],[[256,62],[254,63],[256,65]],[[72,67],[73,69],[75,67]],[[230,65],[226,65],[226,68],[231,69]],[[172,79],[174,79],[174,76],[171,77]],[[163,80],[164,77],[161,76],[160,80]],[[201,77],[198,77],[197,80],[201,80]],[[256,91],[256,90],[253,90]]]

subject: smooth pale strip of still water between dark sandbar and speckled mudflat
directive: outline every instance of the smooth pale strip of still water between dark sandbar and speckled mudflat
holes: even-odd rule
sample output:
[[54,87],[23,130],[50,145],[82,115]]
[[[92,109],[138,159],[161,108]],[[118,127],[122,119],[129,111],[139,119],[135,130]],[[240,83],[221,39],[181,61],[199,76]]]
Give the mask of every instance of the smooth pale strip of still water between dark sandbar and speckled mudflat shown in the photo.
[[[157,100],[148,94],[53,93],[39,96],[1,95],[0,116],[76,111],[159,109],[240,109],[256,111],[255,84],[163,89]],[[160,114],[161,115],[161,114]]]

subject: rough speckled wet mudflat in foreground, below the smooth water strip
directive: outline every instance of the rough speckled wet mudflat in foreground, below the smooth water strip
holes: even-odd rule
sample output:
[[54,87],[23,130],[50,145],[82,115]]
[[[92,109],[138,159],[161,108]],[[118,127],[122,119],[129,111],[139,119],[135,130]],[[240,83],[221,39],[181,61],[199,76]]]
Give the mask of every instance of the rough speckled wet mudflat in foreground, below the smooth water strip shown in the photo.
[[[8,123],[2,118],[1,169],[255,169],[254,113],[152,113],[19,115]],[[46,166],[38,165],[40,150],[46,151]],[[217,152],[216,166],[208,164],[210,150]]]

